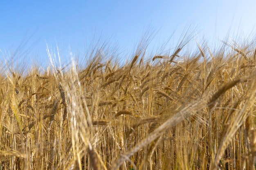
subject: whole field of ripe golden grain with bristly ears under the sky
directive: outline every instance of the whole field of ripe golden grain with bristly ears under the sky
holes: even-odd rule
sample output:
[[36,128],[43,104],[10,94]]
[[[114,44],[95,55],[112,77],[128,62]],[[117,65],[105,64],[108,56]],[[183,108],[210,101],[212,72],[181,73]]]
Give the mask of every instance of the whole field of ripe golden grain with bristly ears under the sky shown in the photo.
[[45,71],[6,63],[0,169],[254,170],[254,43],[186,43],[150,59],[139,46],[122,64],[106,46],[81,67],[58,69],[49,49]]

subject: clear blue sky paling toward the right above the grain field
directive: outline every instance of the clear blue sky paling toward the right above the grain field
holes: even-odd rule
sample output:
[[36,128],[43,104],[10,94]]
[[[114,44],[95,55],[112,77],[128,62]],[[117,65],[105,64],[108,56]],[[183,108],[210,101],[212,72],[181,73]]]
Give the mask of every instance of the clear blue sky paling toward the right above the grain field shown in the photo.
[[53,49],[56,42],[67,61],[70,51],[82,57],[93,38],[125,56],[145,32],[155,35],[150,50],[173,33],[174,47],[190,25],[198,41],[215,42],[228,31],[246,37],[255,34],[255,7],[255,0],[0,0],[0,50],[44,63],[46,44]]

